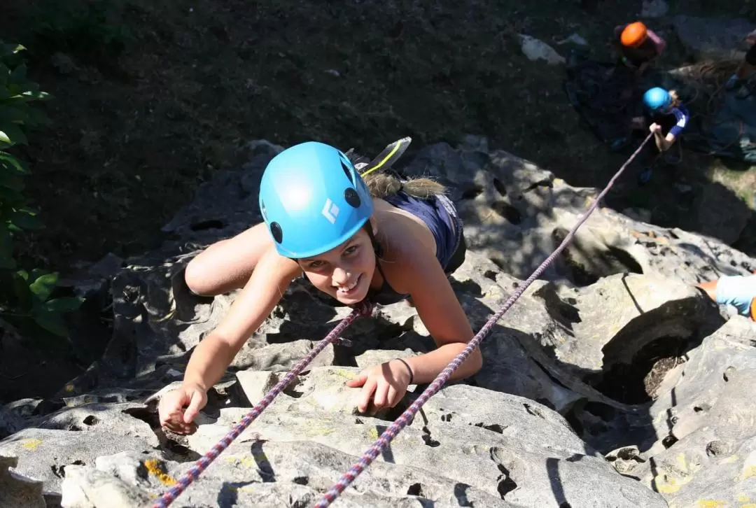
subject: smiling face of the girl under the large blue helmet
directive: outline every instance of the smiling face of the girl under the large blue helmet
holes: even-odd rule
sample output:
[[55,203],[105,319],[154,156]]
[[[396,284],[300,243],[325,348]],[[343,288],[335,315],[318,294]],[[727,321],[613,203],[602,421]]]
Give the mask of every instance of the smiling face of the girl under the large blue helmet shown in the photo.
[[299,266],[318,290],[345,305],[353,305],[367,296],[376,268],[376,256],[370,235],[365,228],[360,228],[341,245],[318,256],[299,259]]

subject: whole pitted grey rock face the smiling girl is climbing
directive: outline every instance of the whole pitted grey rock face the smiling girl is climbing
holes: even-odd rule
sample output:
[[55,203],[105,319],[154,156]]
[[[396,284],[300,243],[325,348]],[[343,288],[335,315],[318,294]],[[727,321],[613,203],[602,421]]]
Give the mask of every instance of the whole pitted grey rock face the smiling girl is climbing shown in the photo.
[[[280,149],[249,144],[246,166],[218,172],[163,228],[163,249],[125,261],[111,284],[113,336],[85,374],[49,400],[0,407],[0,506],[147,505],[349,314],[294,283],[210,389],[197,431],[160,429],[157,399],[234,299],[194,296],[184,267],[260,220],[259,178]],[[451,283],[475,330],[598,194],[472,136],[423,148],[398,171],[449,186],[469,246]],[[694,284],[753,270],[718,240],[597,210],[494,325],[482,370],[432,397],[334,505],[692,506],[714,492],[722,506],[745,503],[756,491],[756,326],[728,319]],[[178,504],[320,499],[424,389],[368,417],[345,381],[434,348],[406,303],[377,308],[342,339]]]

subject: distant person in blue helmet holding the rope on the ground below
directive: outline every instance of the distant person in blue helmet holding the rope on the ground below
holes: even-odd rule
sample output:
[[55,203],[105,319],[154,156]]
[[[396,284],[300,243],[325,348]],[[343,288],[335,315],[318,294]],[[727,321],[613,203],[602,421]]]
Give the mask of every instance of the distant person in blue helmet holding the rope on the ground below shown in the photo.
[[643,94],[643,116],[633,119],[633,129],[649,129],[654,134],[654,142],[646,143],[638,154],[638,160],[645,166],[638,176],[640,184],[651,179],[659,156],[674,145],[689,121],[690,113],[677,96],[677,91],[655,86]]

